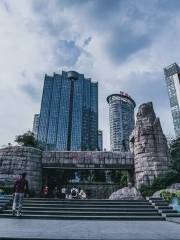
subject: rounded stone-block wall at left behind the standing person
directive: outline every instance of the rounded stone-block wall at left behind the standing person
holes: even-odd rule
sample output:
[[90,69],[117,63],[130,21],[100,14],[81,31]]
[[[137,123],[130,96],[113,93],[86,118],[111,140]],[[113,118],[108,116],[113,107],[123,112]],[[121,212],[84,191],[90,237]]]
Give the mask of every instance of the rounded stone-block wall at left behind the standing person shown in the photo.
[[29,188],[39,194],[42,186],[42,152],[31,147],[0,149],[0,185],[12,187],[19,174],[26,172]]

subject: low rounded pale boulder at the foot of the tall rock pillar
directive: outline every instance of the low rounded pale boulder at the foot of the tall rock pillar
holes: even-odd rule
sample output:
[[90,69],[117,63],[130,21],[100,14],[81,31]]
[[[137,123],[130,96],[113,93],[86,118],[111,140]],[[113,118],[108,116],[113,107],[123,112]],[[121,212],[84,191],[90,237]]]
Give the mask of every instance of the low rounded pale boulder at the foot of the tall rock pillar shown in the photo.
[[116,192],[113,192],[109,197],[110,200],[138,200],[143,199],[141,193],[132,185],[128,184],[128,187],[121,188]]

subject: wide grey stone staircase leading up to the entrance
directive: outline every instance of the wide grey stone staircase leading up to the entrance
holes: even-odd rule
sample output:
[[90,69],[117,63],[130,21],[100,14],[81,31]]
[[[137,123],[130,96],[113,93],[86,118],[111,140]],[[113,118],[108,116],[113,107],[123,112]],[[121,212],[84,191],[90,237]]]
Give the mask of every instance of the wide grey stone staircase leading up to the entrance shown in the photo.
[[[12,216],[12,199],[0,200],[0,218]],[[0,205],[1,206],[1,205]],[[165,220],[148,200],[59,200],[52,198],[24,199],[22,216],[25,219],[67,220]]]

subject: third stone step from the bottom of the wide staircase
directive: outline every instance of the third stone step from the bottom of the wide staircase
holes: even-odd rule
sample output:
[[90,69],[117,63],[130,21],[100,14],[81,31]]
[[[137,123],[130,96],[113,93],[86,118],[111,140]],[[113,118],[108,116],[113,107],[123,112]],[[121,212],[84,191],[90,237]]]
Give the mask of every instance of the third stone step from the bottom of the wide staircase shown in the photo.
[[59,207],[59,208],[54,208],[54,207],[25,207],[23,206],[23,210],[31,210],[31,211],[36,211],[36,210],[40,210],[40,211],[61,211],[61,210],[71,210],[71,211],[87,211],[87,210],[91,210],[91,211],[106,211],[106,212],[116,212],[116,211],[121,211],[121,212],[129,212],[129,211],[139,211],[139,212],[157,212],[157,210],[155,208],[99,208],[99,207],[94,207],[94,208],[87,208],[87,207]]

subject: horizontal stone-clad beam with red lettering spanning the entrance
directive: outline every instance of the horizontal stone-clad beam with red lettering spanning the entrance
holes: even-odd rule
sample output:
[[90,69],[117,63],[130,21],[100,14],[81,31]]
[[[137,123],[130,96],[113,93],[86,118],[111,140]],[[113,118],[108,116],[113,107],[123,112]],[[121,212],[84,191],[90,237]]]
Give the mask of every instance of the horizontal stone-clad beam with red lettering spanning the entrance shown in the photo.
[[130,152],[48,151],[43,152],[43,167],[133,169]]

